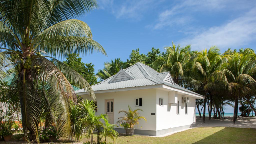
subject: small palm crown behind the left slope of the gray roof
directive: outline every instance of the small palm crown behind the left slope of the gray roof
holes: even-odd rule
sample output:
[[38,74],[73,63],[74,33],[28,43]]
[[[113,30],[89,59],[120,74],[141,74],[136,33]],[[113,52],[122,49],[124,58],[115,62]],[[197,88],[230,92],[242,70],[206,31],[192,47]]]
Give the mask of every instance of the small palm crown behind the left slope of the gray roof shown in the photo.
[[124,66],[124,62],[120,60],[120,58],[115,59],[111,62],[104,63],[104,69],[98,70],[96,77],[101,81],[105,80],[113,75],[115,75],[119,70],[121,70]]

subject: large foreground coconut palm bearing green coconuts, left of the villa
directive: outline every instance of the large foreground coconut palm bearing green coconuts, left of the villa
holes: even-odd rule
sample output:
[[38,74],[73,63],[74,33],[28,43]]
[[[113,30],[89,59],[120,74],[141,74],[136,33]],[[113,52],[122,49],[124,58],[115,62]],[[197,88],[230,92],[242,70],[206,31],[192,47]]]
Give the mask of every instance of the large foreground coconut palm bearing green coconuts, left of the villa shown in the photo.
[[[89,26],[72,19],[97,7],[94,0],[2,0],[0,6],[0,78],[11,73],[12,89],[18,94],[25,136],[38,140],[42,112],[57,126],[63,137],[71,135],[69,99],[76,94],[67,79],[94,93],[76,71],[55,59],[71,53],[101,52],[103,47],[92,39]],[[27,138],[27,137],[26,137]]]

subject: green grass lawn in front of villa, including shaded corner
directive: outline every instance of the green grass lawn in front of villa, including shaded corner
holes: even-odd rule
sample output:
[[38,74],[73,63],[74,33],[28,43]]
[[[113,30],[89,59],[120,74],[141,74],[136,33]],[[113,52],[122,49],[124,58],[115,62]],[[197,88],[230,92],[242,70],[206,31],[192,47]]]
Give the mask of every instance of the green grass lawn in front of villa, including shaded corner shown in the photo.
[[[189,129],[186,131],[178,132],[170,136],[166,137],[150,137],[150,136],[124,136],[120,135],[116,140],[116,144],[248,144],[248,143],[256,143],[256,129],[253,128],[230,128],[230,127],[200,127]],[[97,135],[93,135],[94,141],[97,141]],[[74,143],[82,143],[84,141],[89,141],[90,139],[83,138],[81,142]],[[113,140],[107,139],[107,142],[112,142]],[[18,141],[0,141],[0,143],[23,143]],[[62,142],[60,142],[62,143]],[[72,142],[68,142],[69,144],[74,144]],[[66,143],[66,144],[68,144]]]

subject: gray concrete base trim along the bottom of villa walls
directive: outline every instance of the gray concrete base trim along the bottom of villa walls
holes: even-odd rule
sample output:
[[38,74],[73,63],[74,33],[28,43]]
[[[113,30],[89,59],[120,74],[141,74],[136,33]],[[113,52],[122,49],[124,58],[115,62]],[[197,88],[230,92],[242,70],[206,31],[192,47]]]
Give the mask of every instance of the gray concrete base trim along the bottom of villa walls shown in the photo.
[[[187,128],[191,128],[191,127],[195,127],[196,124],[191,124],[191,125],[186,125],[186,126],[180,126],[180,127],[175,127],[175,128],[169,128],[169,129],[162,129],[162,130],[141,130],[141,129],[135,129],[134,130],[134,134],[137,135],[148,135],[148,136],[160,136],[160,135],[164,135],[166,133],[170,133],[170,132],[174,132],[174,131],[178,131],[178,130],[183,130],[183,129],[187,129]],[[123,128],[115,128],[115,130],[118,133],[126,133],[125,129]]]

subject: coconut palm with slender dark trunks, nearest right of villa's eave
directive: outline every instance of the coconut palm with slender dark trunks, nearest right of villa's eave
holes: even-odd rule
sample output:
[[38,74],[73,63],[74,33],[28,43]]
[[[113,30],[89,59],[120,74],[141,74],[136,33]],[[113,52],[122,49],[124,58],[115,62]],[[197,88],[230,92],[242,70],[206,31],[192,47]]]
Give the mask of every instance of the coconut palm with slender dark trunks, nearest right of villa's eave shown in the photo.
[[[205,96],[204,99],[204,111],[203,122],[205,122],[205,110],[207,99],[210,98],[210,112],[209,120],[211,118],[212,110],[212,95],[209,91],[209,87],[212,87],[208,83],[212,82],[212,76],[214,72],[221,66],[222,57],[219,53],[219,49],[212,46],[208,51],[207,49],[197,53],[195,57],[192,57],[187,64],[186,76],[189,77],[194,87],[202,90]],[[214,83],[211,83],[214,84]]]

